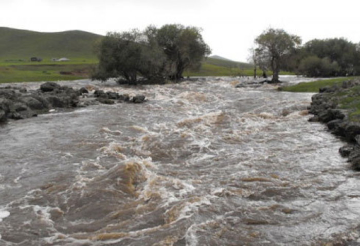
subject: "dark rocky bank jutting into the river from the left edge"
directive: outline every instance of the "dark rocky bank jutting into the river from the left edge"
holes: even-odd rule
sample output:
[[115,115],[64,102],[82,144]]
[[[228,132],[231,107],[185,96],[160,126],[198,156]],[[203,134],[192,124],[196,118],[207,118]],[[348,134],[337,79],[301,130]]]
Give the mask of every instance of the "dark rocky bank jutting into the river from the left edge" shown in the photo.
[[[93,88],[79,90],[47,82],[37,90],[0,87],[0,123],[8,119],[24,119],[53,109],[80,108],[94,104],[143,103],[145,96],[104,92]],[[89,92],[90,91],[90,92]]]

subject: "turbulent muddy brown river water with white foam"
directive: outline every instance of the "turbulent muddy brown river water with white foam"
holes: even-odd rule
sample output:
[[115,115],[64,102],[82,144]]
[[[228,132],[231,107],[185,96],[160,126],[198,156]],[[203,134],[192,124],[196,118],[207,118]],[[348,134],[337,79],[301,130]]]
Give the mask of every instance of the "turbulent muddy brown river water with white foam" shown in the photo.
[[82,80],[149,100],[0,126],[0,245],[356,244],[360,176],[312,94],[232,80]]

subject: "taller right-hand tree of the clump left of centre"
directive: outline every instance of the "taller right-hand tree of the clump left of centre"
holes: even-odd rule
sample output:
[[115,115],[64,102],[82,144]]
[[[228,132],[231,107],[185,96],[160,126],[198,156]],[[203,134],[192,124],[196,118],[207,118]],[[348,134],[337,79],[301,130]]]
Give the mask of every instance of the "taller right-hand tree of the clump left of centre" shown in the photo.
[[170,64],[170,78],[182,78],[185,69],[199,69],[203,58],[210,54],[201,29],[179,24],[164,25],[153,37],[163,48]]

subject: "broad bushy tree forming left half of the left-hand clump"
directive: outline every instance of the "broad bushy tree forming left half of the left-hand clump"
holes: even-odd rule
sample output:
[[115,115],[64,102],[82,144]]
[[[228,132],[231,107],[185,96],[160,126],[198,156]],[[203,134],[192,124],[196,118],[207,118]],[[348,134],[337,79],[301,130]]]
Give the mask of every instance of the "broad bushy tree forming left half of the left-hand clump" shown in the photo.
[[156,44],[148,42],[137,29],[129,32],[109,32],[97,47],[99,65],[94,79],[112,77],[137,84],[138,75],[149,80],[164,78],[166,56]]

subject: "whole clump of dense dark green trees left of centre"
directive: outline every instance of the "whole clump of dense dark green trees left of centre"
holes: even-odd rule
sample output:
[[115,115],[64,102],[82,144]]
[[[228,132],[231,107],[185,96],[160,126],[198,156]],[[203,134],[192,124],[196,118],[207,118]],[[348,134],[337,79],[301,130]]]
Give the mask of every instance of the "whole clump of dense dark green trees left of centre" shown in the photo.
[[118,78],[119,83],[137,84],[139,80],[161,83],[178,80],[185,69],[199,69],[210,54],[201,29],[179,24],[145,30],[109,32],[97,44],[99,65],[92,78]]

